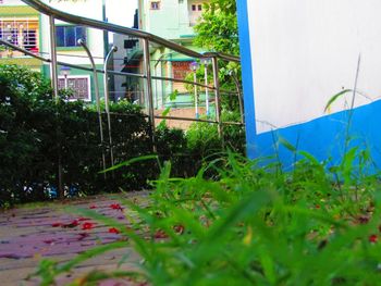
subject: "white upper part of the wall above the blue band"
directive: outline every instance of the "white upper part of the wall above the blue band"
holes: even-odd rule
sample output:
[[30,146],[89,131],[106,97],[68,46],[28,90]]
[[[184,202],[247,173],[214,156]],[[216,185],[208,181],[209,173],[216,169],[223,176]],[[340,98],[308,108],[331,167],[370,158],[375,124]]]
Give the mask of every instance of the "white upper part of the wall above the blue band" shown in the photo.
[[[354,88],[355,105],[381,97],[380,0],[248,0],[257,132],[324,115]],[[346,100],[346,101],[345,101]],[[351,105],[352,95],[331,112]],[[266,123],[261,123],[266,122]]]

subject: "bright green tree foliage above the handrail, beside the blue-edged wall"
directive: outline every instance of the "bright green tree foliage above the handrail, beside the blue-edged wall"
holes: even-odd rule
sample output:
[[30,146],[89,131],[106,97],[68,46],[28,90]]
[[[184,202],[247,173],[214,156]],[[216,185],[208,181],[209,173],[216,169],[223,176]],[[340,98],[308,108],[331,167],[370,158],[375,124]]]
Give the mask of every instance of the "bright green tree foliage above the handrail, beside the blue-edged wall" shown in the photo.
[[210,51],[239,54],[235,0],[211,0],[194,27],[194,43]]

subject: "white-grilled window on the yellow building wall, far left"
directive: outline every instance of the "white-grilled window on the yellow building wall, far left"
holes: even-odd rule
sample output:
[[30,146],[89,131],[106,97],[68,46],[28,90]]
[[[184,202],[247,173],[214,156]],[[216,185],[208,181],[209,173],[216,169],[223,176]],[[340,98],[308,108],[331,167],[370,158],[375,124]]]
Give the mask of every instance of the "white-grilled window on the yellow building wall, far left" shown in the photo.
[[0,21],[0,38],[32,52],[38,52],[37,20]]

